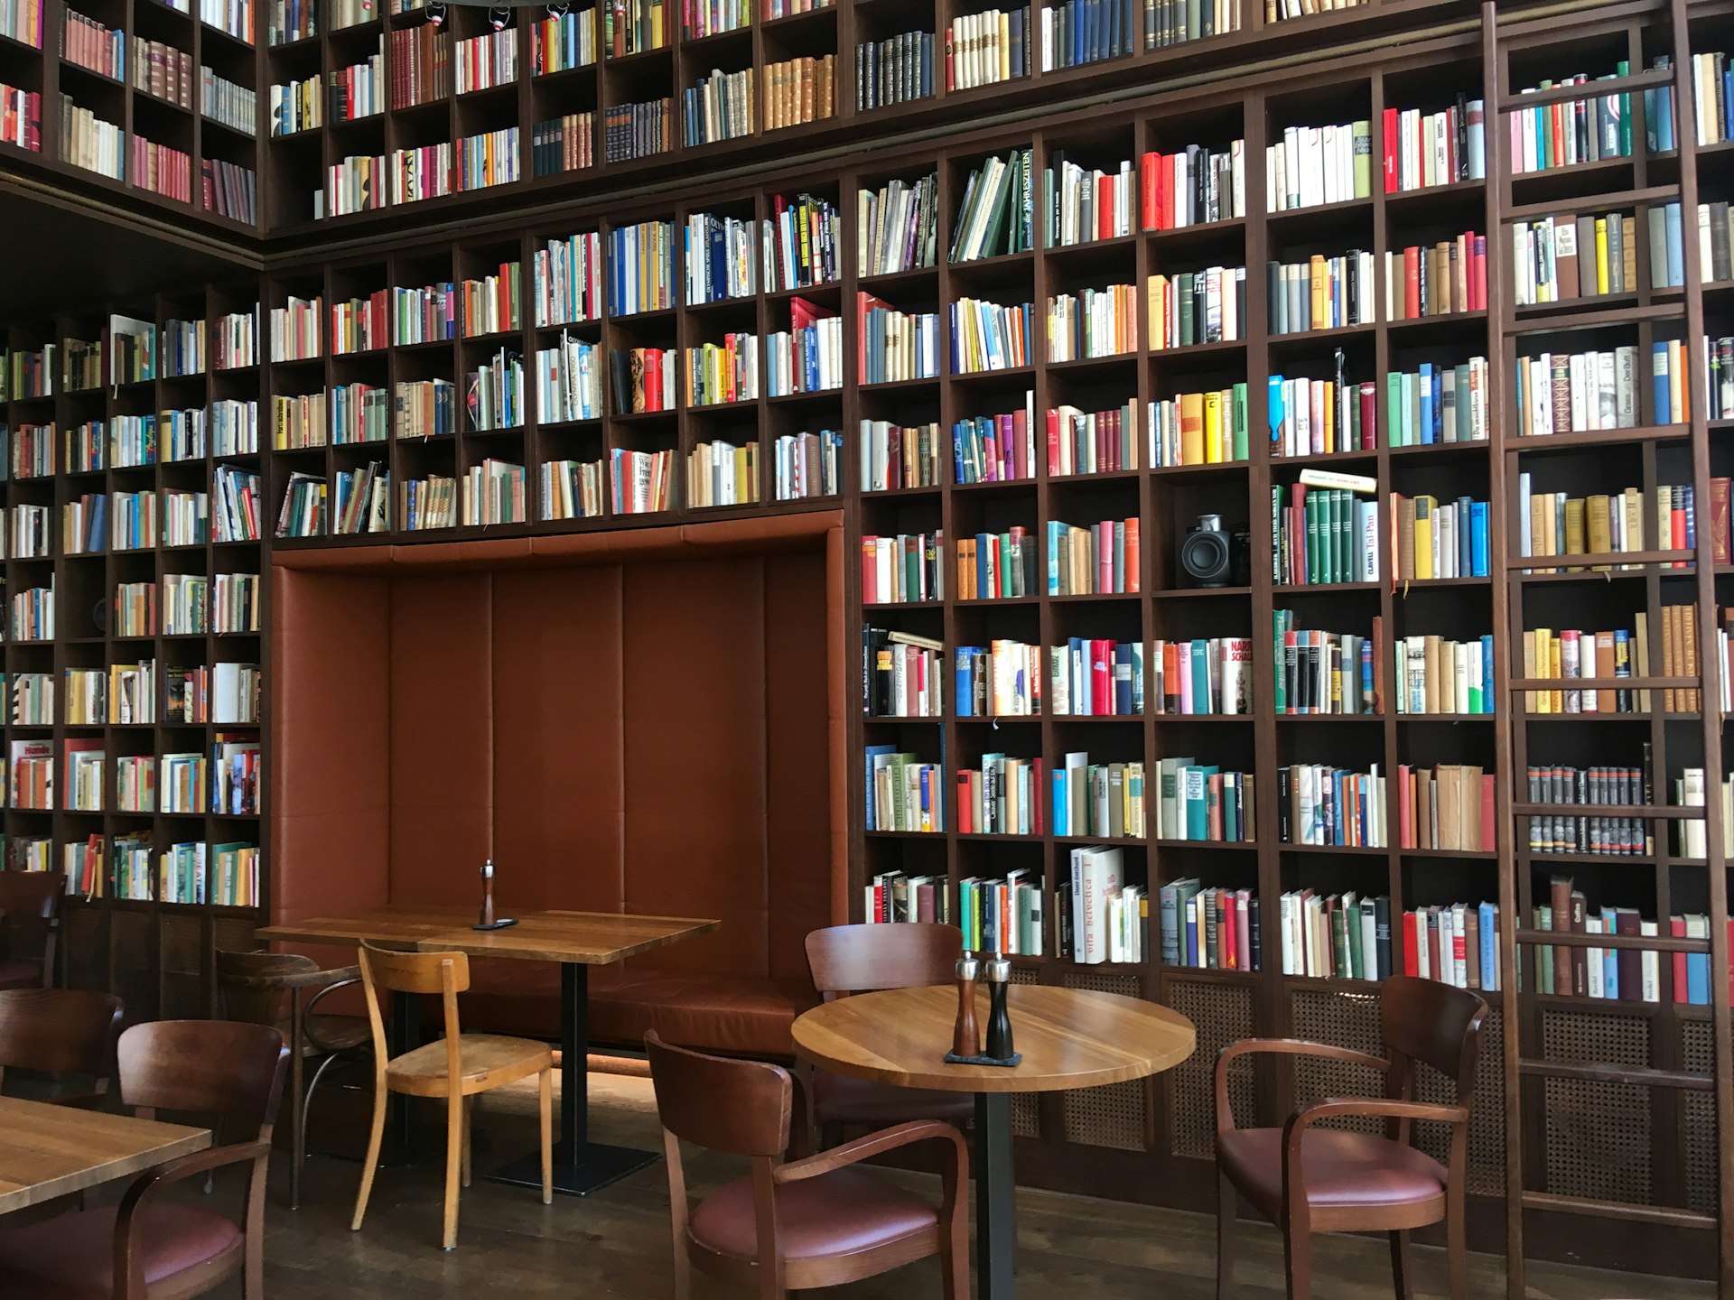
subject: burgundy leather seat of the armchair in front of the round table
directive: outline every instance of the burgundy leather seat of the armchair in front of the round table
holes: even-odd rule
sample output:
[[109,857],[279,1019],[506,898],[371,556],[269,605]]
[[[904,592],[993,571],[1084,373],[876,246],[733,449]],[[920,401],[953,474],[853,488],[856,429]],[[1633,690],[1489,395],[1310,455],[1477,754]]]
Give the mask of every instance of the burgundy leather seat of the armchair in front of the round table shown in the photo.
[[[787,1260],[855,1255],[931,1232],[938,1210],[890,1182],[841,1168],[777,1189],[777,1229]],[[692,1212],[687,1236],[702,1250],[758,1257],[753,1180],[735,1179]]]

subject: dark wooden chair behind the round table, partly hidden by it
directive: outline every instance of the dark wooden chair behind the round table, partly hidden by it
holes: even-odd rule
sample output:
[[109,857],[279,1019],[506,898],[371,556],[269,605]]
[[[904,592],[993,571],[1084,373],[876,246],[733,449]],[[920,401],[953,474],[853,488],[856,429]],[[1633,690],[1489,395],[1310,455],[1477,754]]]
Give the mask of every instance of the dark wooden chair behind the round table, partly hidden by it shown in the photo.
[[[829,926],[806,936],[813,988],[825,1002],[883,988],[948,985],[957,978],[962,950],[962,931],[933,922]],[[824,1139],[843,1127],[883,1128],[905,1120],[968,1123],[975,1115],[975,1097],[968,1092],[900,1089],[829,1069],[813,1069],[803,1080],[815,1146],[825,1146]]]

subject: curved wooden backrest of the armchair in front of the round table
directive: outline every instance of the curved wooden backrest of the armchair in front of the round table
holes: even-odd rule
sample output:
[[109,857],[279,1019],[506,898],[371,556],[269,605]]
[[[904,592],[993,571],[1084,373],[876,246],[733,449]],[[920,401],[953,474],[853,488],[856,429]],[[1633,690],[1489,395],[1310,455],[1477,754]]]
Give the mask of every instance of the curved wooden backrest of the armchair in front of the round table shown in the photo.
[[789,1149],[794,1085],[766,1061],[735,1061],[645,1035],[662,1127],[687,1142],[779,1160]]

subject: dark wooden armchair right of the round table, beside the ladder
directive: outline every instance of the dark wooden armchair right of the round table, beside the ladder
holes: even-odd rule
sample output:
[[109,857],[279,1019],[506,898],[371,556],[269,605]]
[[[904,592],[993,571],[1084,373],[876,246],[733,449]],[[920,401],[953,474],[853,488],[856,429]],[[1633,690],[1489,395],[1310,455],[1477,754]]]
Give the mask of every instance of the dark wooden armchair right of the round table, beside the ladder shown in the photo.
[[[1463,1161],[1469,1113],[1476,1090],[1476,1059],[1488,1004],[1436,979],[1392,976],[1385,981],[1379,1023],[1391,1059],[1347,1047],[1297,1038],[1242,1038],[1216,1059],[1217,1300],[1233,1295],[1235,1193],[1283,1229],[1290,1300],[1313,1295],[1311,1239],[1320,1232],[1389,1232],[1391,1267],[1403,1300],[1410,1295],[1408,1234],[1444,1220],[1451,1300],[1469,1297],[1463,1243]],[[1288,1116],[1281,1128],[1235,1128],[1228,1101],[1228,1068],[1248,1052],[1320,1056],[1370,1066],[1385,1076],[1384,1097],[1328,1097]],[[1457,1085],[1457,1104],[1413,1101],[1415,1063],[1422,1061]],[[1321,1120],[1372,1115],[1385,1120],[1385,1135],[1318,1128]],[[1410,1146],[1410,1125],[1434,1120],[1451,1125],[1451,1151],[1441,1168]]]

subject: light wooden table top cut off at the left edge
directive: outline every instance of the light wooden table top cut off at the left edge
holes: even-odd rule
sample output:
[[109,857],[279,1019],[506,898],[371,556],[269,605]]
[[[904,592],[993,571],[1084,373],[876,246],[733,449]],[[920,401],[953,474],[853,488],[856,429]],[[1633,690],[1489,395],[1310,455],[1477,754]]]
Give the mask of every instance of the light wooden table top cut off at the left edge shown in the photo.
[[208,1128],[0,1097],[0,1215],[212,1144]]

